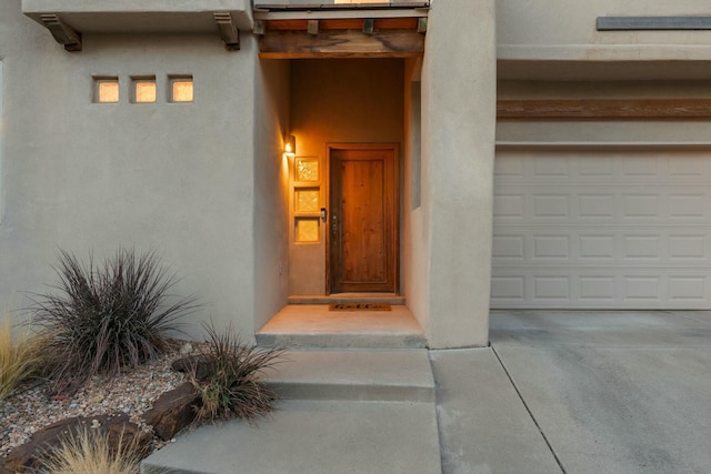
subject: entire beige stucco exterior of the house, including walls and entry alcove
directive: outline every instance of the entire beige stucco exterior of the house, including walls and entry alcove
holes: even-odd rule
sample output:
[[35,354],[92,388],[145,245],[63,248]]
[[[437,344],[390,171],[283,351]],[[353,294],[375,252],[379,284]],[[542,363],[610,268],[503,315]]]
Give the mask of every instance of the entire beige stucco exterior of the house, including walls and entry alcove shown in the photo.
[[[196,320],[251,336],[290,295],[326,291],[322,246],[292,243],[282,151],[294,134],[299,155],[324,160],[329,142],[399,145],[399,292],[430,347],[481,346],[497,143],[710,141],[708,120],[497,123],[497,99],[711,98],[711,31],[594,27],[708,14],[707,1],[431,0],[424,54],[387,60],[263,60],[249,2],[141,2],[133,14],[136,2],[0,3],[0,307],[54,281],[58,249],[156,249],[182,276],[176,291],[206,303]],[[233,12],[239,51],[199,7]],[[38,24],[62,8],[86,27],[81,52]],[[174,74],[193,78],[193,102],[168,102]],[[97,77],[119,79],[118,103],[92,102]],[[156,103],[129,100],[143,77],[156,78]]]

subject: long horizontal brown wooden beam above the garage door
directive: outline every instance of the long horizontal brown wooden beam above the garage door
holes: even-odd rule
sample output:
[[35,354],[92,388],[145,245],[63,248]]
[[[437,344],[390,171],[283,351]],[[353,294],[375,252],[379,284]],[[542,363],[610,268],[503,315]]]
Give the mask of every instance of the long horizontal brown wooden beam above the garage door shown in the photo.
[[500,100],[499,119],[710,119],[711,99]]

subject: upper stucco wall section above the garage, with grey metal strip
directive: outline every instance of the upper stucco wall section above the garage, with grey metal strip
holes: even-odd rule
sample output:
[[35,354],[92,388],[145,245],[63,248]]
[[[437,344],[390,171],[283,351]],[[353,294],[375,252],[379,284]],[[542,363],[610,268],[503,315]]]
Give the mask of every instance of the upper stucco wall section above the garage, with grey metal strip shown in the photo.
[[598,17],[709,14],[705,0],[497,0],[504,60],[661,60],[709,57],[711,31],[597,31]]

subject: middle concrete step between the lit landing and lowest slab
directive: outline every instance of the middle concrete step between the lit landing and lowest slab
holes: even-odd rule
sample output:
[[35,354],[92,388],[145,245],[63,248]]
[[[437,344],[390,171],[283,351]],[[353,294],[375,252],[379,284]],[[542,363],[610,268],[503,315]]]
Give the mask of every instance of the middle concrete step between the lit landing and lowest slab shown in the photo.
[[291,351],[264,376],[286,400],[434,403],[425,350]]

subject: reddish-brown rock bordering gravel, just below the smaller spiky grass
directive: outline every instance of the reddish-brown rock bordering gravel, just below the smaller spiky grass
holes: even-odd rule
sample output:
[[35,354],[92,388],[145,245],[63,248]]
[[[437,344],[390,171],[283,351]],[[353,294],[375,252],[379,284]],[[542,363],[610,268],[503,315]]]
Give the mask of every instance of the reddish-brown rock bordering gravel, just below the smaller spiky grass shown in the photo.
[[201,404],[198,391],[190,382],[184,382],[159,396],[143,417],[158,437],[168,441],[194,421],[196,409]]

